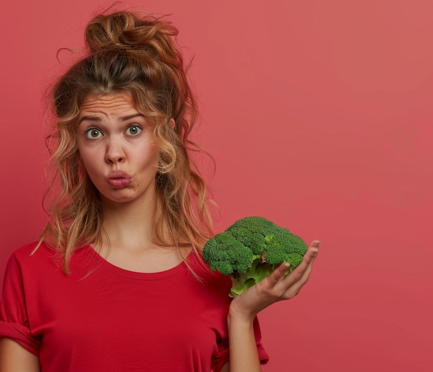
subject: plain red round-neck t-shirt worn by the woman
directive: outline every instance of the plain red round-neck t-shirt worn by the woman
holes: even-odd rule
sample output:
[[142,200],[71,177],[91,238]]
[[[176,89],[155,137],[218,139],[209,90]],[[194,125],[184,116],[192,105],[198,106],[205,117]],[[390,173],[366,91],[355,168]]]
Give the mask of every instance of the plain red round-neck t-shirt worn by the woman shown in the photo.
[[[220,371],[228,362],[231,280],[194,254],[160,273],[135,273],[77,249],[71,275],[35,244],[12,254],[0,303],[0,337],[39,356],[44,372]],[[255,335],[259,358],[268,361]]]

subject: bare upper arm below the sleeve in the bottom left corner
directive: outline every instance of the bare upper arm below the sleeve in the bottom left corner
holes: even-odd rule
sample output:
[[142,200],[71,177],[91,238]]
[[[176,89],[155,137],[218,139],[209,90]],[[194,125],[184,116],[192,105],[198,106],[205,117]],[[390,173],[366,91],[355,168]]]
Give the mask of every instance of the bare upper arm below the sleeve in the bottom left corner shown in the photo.
[[0,372],[40,372],[36,355],[10,338],[0,338]]

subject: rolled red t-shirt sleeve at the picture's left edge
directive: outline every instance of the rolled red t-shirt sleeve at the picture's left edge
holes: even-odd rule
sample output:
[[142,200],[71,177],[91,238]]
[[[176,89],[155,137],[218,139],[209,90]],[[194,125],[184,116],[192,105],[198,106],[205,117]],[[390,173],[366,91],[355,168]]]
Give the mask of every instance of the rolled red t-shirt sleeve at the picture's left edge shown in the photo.
[[3,281],[0,337],[11,338],[30,353],[39,354],[40,340],[30,332],[23,276],[15,254],[8,261]]

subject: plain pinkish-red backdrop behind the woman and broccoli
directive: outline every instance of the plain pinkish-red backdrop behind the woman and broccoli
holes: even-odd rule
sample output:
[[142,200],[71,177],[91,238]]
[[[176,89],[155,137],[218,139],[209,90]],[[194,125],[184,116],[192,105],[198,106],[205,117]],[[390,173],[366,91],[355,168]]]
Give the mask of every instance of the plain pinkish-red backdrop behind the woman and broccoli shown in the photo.
[[[0,274],[44,223],[56,50],[110,3],[1,2]],[[171,13],[195,55],[219,226],[263,215],[322,240],[308,286],[261,315],[264,371],[433,371],[433,3],[129,5]]]

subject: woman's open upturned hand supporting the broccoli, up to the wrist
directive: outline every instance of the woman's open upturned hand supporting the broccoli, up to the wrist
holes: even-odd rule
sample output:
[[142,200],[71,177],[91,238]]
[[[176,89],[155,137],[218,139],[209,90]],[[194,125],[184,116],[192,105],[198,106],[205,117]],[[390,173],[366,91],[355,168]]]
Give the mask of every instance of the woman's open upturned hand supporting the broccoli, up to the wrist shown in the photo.
[[297,295],[310,277],[319,246],[320,242],[313,240],[302,262],[288,275],[284,275],[284,272],[289,264],[281,264],[271,275],[235,297],[230,305],[230,317],[252,320],[257,313],[271,304],[290,300]]

